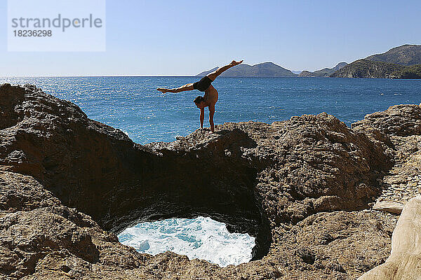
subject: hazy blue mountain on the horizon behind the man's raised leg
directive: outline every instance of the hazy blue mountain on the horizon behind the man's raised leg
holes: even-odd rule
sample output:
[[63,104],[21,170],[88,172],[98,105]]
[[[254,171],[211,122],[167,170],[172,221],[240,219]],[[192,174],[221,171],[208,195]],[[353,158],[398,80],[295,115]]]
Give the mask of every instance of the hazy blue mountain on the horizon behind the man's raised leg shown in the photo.
[[[206,76],[208,73],[215,71],[218,67],[204,71],[196,76]],[[296,77],[297,74],[285,69],[272,62],[263,62],[253,66],[248,64],[239,64],[232,67],[221,74],[221,77]]]

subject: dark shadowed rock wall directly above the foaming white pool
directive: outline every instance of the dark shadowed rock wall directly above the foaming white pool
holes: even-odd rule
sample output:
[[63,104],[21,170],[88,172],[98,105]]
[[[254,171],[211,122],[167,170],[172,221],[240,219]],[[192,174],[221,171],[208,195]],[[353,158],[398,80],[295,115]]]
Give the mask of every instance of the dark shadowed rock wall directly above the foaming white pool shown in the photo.
[[253,258],[262,258],[269,249],[270,231],[255,196],[258,169],[252,160],[238,157],[241,148],[256,144],[241,130],[220,135],[206,146],[186,150],[149,144],[158,156],[149,174],[142,172],[147,182],[114,190],[102,225],[118,233],[144,221],[209,216],[225,223],[229,232],[256,237]]

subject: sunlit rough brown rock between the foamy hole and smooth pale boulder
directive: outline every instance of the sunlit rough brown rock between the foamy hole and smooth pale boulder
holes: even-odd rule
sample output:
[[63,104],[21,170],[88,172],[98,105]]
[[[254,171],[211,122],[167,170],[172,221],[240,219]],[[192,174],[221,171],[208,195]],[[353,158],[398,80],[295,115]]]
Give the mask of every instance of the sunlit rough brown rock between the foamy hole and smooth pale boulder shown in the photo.
[[396,220],[378,211],[315,214],[275,228],[268,257],[278,260],[281,279],[356,279],[385,262]]

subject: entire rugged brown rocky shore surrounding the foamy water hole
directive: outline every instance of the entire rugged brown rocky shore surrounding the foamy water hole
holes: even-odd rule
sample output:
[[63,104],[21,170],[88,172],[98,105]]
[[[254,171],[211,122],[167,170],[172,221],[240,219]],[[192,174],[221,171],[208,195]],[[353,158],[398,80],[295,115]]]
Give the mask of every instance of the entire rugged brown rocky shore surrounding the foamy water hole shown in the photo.
[[[142,146],[71,102],[5,84],[0,135],[1,279],[356,279],[391,250],[400,211],[379,203],[403,207],[420,186],[417,105],[352,128],[321,113]],[[199,215],[255,236],[253,261],[221,268],[116,238]]]

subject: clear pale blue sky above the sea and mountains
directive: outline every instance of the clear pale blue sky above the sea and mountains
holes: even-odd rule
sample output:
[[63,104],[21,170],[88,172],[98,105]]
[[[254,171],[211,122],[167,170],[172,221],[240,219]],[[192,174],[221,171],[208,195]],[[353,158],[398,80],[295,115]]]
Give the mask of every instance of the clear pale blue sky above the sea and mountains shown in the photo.
[[0,76],[194,75],[232,59],[314,71],[421,43],[419,0],[107,0],[105,52],[8,52],[6,13],[0,0]]

